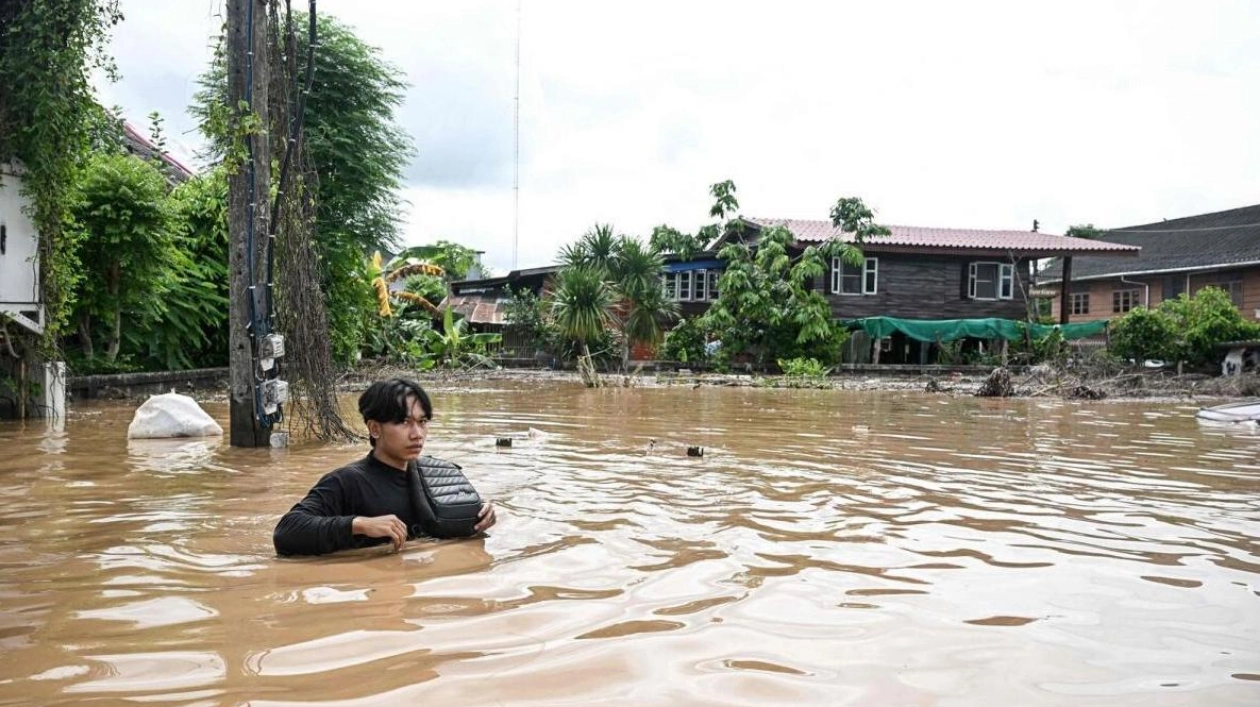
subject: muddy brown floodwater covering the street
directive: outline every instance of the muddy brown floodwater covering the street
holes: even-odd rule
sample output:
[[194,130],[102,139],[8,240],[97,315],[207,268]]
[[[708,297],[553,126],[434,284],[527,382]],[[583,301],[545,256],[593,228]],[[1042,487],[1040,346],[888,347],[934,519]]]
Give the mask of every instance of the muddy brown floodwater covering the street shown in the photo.
[[362,447],[129,444],[134,403],[0,425],[0,704],[1260,704],[1254,428],[912,392],[433,394],[427,451],[499,526],[320,560],[275,557],[272,526]]

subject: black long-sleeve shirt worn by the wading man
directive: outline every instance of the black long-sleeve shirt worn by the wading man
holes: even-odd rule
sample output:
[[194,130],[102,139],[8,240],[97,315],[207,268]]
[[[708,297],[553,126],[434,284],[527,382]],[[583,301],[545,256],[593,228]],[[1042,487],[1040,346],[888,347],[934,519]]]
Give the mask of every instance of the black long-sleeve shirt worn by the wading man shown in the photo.
[[383,544],[389,538],[369,538],[350,532],[357,515],[394,514],[407,526],[407,539],[421,529],[411,502],[407,473],[373,455],[324,475],[306,498],[276,524],[272,542],[278,555],[325,555],[339,549]]

